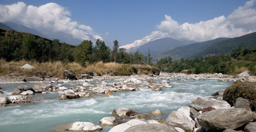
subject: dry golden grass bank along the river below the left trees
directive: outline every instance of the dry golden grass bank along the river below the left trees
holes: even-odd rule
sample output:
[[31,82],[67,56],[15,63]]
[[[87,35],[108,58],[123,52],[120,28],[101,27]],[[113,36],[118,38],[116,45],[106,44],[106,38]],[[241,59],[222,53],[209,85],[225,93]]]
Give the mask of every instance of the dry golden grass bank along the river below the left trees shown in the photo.
[[[35,67],[35,69],[21,69],[21,66],[28,63]],[[63,71],[70,70],[74,72],[77,77],[79,74],[87,73],[89,75],[119,75],[119,76],[129,76],[135,74],[149,74],[152,73],[152,67],[148,65],[129,65],[121,63],[93,63],[86,65],[86,67],[81,66],[79,63],[62,63],[58,62],[43,62],[39,63],[36,61],[26,61],[20,60],[18,62],[11,61],[6,62],[4,59],[0,60],[0,75],[9,76],[37,76],[39,78],[57,77],[63,78]]]

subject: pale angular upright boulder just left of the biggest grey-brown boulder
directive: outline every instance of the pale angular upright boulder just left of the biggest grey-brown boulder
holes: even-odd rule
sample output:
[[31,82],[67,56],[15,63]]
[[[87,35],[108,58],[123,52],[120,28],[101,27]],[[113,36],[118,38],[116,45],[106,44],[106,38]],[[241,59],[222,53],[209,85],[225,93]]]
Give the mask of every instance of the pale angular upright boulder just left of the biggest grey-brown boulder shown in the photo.
[[166,118],[166,124],[182,128],[186,132],[193,131],[195,121],[193,121],[189,115],[189,108],[186,107],[180,108],[177,111],[172,111]]

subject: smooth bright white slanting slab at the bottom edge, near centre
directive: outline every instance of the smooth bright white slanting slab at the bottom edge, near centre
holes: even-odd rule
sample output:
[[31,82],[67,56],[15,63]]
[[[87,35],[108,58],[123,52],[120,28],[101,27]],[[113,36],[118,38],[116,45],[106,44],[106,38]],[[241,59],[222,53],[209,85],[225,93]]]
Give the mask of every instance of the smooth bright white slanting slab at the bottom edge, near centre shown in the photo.
[[133,125],[139,125],[139,124],[146,124],[146,122],[133,119],[133,120],[128,121],[127,123],[116,125],[115,127],[111,128],[111,130],[108,132],[123,132],[123,131],[127,130],[127,128],[129,128],[129,127],[132,127]]

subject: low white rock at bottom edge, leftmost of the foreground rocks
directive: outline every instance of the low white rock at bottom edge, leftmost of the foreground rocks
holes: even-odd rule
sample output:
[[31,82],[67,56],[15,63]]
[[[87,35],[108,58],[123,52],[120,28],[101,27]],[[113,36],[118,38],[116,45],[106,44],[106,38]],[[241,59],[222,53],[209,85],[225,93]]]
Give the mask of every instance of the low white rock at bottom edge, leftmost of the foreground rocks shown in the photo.
[[69,131],[95,131],[102,130],[101,126],[89,122],[75,122]]

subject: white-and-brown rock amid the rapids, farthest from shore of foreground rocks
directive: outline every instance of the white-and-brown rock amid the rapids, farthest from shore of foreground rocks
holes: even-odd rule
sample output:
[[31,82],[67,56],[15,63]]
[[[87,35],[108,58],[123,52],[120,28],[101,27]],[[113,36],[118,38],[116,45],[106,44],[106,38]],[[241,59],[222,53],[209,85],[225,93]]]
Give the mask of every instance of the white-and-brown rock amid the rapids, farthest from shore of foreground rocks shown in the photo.
[[129,110],[128,108],[118,108],[112,112],[113,115],[117,115],[118,117],[131,117],[137,114],[137,112]]

